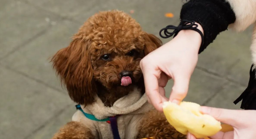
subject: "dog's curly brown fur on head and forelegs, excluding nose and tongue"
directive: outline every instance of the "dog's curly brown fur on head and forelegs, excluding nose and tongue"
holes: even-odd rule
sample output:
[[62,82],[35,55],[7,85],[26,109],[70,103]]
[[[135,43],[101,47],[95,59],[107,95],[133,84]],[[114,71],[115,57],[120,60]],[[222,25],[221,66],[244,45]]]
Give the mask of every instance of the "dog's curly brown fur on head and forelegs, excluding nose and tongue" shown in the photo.
[[[86,106],[98,95],[105,106],[111,107],[134,88],[145,92],[140,60],[161,45],[160,39],[142,31],[128,14],[104,11],[87,19],[70,45],[59,50],[52,62],[73,101]],[[129,86],[120,85],[122,71],[132,73]],[[183,139],[163,115],[149,113],[145,121],[138,129],[140,137]],[[54,139],[93,139],[93,136],[84,125],[70,122]]]

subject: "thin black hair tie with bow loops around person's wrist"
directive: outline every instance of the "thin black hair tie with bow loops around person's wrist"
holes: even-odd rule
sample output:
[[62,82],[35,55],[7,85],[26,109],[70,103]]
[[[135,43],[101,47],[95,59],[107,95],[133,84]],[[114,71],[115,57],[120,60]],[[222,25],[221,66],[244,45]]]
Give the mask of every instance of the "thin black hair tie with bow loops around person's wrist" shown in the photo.
[[[190,24],[189,24],[189,23],[190,23]],[[189,25],[188,25],[188,24],[189,24]],[[195,21],[182,20],[182,21],[180,22],[180,25],[178,25],[177,27],[174,26],[174,25],[167,25],[166,28],[163,28],[163,29],[160,30],[159,35],[160,35],[160,37],[162,37],[162,38],[164,38],[164,39],[169,38],[169,37],[171,37],[171,36],[173,36],[173,35],[174,35],[174,36],[173,36],[173,38],[174,38],[175,36],[177,36],[177,34],[178,34],[181,30],[193,30],[193,31],[198,32],[198,33],[201,35],[201,37],[202,37],[202,42],[201,42],[201,46],[200,46],[200,47],[202,47],[202,45],[204,44],[204,35],[203,35],[203,33],[202,33],[199,29],[197,29],[197,27],[198,27],[198,25],[195,24]],[[169,29],[172,29],[172,30],[174,30],[174,31],[173,31],[173,32],[169,32],[169,31],[168,31]],[[162,31],[163,31],[163,33],[164,33],[165,36],[163,36],[163,35],[161,34]]]

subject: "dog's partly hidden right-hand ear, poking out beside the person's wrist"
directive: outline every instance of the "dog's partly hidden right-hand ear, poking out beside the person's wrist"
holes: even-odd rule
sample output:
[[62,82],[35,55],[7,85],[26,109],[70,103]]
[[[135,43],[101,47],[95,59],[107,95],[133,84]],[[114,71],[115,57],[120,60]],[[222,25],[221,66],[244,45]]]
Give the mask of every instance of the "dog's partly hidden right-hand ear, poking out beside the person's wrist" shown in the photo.
[[143,39],[145,40],[144,54],[145,56],[162,46],[162,41],[153,34],[143,33]]

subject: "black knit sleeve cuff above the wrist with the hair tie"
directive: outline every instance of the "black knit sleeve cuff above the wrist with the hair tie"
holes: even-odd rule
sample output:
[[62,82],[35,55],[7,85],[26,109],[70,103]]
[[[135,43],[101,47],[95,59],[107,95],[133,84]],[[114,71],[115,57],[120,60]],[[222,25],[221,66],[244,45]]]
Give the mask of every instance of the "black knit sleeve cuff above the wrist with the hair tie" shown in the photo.
[[204,45],[201,53],[229,24],[235,22],[236,16],[230,3],[226,0],[190,0],[182,6],[181,20],[198,22],[204,29]]

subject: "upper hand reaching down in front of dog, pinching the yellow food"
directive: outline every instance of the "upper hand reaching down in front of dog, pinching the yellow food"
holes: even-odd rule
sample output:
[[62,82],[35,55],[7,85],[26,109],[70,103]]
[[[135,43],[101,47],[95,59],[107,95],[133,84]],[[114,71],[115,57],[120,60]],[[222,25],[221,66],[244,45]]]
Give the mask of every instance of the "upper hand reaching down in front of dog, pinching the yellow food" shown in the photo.
[[[201,25],[198,29],[203,33]],[[170,42],[149,53],[140,61],[148,102],[158,111],[163,111],[165,89],[169,79],[174,80],[171,96],[179,104],[186,96],[189,80],[198,61],[201,36],[192,30],[182,30]]]

